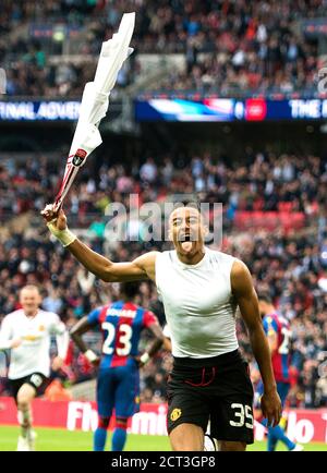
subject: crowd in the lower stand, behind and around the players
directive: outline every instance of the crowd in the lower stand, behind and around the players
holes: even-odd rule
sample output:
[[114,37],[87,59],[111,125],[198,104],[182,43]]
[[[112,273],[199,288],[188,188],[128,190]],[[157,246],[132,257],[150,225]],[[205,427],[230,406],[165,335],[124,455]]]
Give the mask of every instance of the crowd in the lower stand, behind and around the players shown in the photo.
[[[258,292],[268,291],[293,330],[294,407],[326,405],[327,359],[327,215],[326,162],[316,156],[249,156],[233,166],[208,153],[193,157],[189,167],[178,169],[171,157],[162,160],[135,160],[124,169],[121,163],[102,163],[98,178],[83,169],[65,203],[70,227],[95,251],[112,260],[130,260],[148,250],[166,250],[169,242],[146,242],[140,226],[131,225],[133,241],[108,244],[106,209],[112,203],[129,207],[131,193],[140,205],[166,202],[178,193],[195,193],[202,202],[223,204],[225,232],[221,250],[244,260]],[[24,166],[8,159],[0,172],[0,318],[17,307],[17,293],[25,283],[40,286],[46,310],[55,311],[72,326],[92,308],[114,298],[110,284],[96,280],[49,238],[38,211],[52,202],[58,170],[46,158],[31,158]],[[265,228],[240,232],[234,223],[238,210],[280,210],[305,215],[301,230],[271,232]],[[29,210],[29,211],[28,211]],[[10,219],[9,219],[10,217]],[[25,218],[22,225],[22,220]],[[135,222],[134,222],[135,223]],[[138,222],[140,223],[140,222]],[[21,228],[20,228],[21,226]],[[136,238],[135,238],[136,237]],[[142,282],[138,303],[152,308],[165,324],[165,312],[155,287]],[[244,326],[238,322],[241,348],[252,362]],[[100,337],[90,332],[88,342],[96,349]],[[147,339],[143,339],[143,345]],[[166,375],[171,365],[161,352],[142,375],[142,400],[159,401],[166,396]],[[253,365],[253,371],[255,366]],[[89,379],[92,366],[71,347],[63,377],[70,383]]]

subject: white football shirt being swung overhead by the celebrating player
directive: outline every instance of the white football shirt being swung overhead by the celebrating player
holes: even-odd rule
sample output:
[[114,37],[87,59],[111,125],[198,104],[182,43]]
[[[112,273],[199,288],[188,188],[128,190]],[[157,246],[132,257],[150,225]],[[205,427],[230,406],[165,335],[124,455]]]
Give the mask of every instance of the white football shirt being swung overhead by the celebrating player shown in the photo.
[[66,160],[59,193],[52,205],[58,213],[68,194],[78,168],[83,166],[90,153],[96,149],[102,138],[98,130],[99,123],[106,117],[109,106],[109,95],[117,81],[123,62],[133,52],[130,48],[135,26],[135,13],[122,16],[118,33],[102,43],[98,65],[93,82],[88,82],[83,92],[75,134]]

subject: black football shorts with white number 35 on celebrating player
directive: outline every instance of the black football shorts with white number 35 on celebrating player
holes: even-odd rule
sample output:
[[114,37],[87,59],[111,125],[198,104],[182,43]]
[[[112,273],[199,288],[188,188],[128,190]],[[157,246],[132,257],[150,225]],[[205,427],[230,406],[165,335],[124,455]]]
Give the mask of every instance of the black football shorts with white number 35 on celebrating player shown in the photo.
[[239,350],[210,359],[173,359],[168,378],[168,432],[195,424],[218,440],[253,444],[253,387]]

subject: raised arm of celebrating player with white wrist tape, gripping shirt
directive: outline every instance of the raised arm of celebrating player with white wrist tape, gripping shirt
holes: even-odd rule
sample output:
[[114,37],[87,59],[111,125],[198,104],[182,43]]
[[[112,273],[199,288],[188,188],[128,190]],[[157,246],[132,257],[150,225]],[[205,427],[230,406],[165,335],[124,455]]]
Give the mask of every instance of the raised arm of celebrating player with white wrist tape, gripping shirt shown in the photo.
[[47,206],[43,211],[50,232],[65,246],[86,269],[106,282],[124,282],[140,279],[155,279],[155,260],[158,252],[146,253],[130,263],[112,263],[82,243],[66,226],[61,209],[53,215]]

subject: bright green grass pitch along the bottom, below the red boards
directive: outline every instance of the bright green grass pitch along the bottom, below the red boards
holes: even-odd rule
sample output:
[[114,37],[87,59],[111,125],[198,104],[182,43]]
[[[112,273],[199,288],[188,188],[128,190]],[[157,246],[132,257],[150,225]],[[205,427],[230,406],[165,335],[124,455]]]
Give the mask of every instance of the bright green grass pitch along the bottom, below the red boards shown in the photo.
[[[69,432],[61,428],[35,428],[37,433],[36,450],[38,451],[90,451],[90,432]],[[0,426],[0,451],[13,451],[16,449],[20,429],[15,426]],[[107,449],[110,449],[110,433],[107,439]],[[168,437],[152,435],[128,436],[125,450],[130,451],[169,451]],[[266,450],[265,441],[256,441],[247,447],[249,451]],[[278,450],[286,450],[280,445]],[[304,446],[304,451],[327,451],[327,444],[312,442]]]

